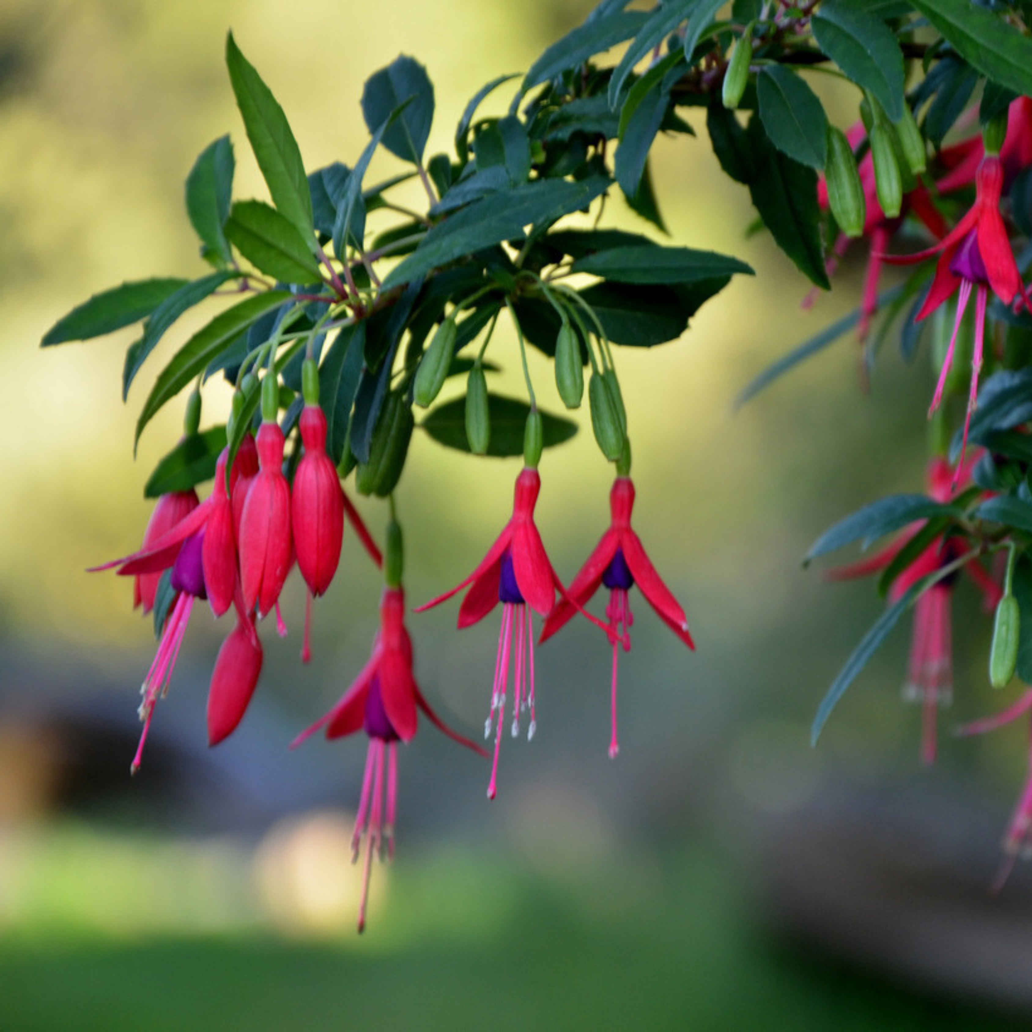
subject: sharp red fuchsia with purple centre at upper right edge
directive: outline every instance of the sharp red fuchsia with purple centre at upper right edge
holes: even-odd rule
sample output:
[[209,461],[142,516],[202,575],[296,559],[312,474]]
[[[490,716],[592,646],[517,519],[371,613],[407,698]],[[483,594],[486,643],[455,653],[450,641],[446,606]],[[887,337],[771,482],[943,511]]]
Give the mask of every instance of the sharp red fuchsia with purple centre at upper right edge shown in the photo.
[[964,443],[961,461],[967,449],[968,428],[978,396],[978,374],[981,369],[986,333],[986,307],[989,291],[1011,304],[1015,297],[1029,307],[1028,294],[1014,262],[1007,230],[1000,215],[1000,196],[1003,188],[1003,165],[997,155],[986,155],[975,173],[975,202],[971,209],[938,244],[911,255],[886,255],[894,264],[912,264],[938,255],[935,278],[915,318],[925,319],[948,300],[960,288],[957,301],[957,319],[949,338],[946,356],[942,361],[939,382],[932,397],[929,413],[942,400],[942,393],[954,359],[954,347],[961,320],[967,309],[972,290],[975,290],[974,353],[971,358],[971,388],[968,395],[967,415],[964,420]]

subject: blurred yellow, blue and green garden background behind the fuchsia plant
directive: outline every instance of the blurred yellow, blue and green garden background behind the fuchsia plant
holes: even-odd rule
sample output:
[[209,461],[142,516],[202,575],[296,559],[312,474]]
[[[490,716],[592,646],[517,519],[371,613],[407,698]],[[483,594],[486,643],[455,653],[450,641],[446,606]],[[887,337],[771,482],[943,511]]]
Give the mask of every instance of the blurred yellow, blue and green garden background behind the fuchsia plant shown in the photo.
[[[40,336],[123,280],[200,275],[183,182],[216,136],[232,135],[235,194],[265,196],[224,69],[227,29],[315,168],[353,163],[367,138],[362,83],[398,53],[433,79],[434,153],[481,85],[526,69],[591,6],[0,0],[0,1027],[1004,1028],[1032,1014],[1032,875],[1019,867],[990,892],[1025,733],[949,734],[1002,705],[974,593],[956,592],[958,698],[935,770],[922,769],[918,714],[899,700],[906,624],[809,746],[814,707],[879,602],[800,557],[859,505],[923,489],[927,358],[905,366],[890,338],[864,393],[846,337],[733,411],[764,365],[852,307],[862,264],[847,261],[835,295],[804,311],[807,283],[764,235],[746,236],[747,194],[719,174],[699,112],[686,117],[700,140],[654,150],[672,239],[760,275],[680,342],[617,356],[636,525],[698,644],[687,652],[637,605],[618,760],[606,749],[608,649],[571,624],[538,652],[538,734],[507,738],[492,805],[486,764],[428,724],[401,750],[397,856],[373,871],[359,939],[349,838],[364,739],[286,748],[367,656],[379,582],[349,535],[316,607],[313,663],[297,658],[295,578],[290,633],[266,627],[255,703],[212,751],[204,696],[225,628],[198,608],[129,778],[155,645],[129,584],[85,570],[135,547],[142,485],[181,408],[134,462],[150,380],[123,405],[133,331],[45,352]],[[852,121],[856,97],[828,97]],[[380,156],[370,181],[396,170]],[[653,232],[618,200],[607,222]],[[192,325],[168,335],[166,357]],[[510,345],[498,338],[491,357]],[[550,369],[531,373],[558,410]],[[213,386],[204,423],[226,402]],[[479,561],[518,467],[417,433],[398,492],[410,602]],[[606,525],[611,471],[586,428],[542,476],[540,526],[569,579]],[[360,506],[379,534],[383,508]],[[455,610],[411,620],[417,675],[476,735],[495,628],[456,634]]]

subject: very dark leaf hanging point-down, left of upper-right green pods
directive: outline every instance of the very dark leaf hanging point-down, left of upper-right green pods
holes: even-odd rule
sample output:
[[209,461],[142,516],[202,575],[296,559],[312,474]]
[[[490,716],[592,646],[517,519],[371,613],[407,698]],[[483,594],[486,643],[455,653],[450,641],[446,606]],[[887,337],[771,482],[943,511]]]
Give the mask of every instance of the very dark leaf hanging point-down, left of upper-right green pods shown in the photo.
[[820,244],[816,173],[774,148],[755,116],[747,134],[755,170],[749,194],[764,225],[804,276],[830,290]]

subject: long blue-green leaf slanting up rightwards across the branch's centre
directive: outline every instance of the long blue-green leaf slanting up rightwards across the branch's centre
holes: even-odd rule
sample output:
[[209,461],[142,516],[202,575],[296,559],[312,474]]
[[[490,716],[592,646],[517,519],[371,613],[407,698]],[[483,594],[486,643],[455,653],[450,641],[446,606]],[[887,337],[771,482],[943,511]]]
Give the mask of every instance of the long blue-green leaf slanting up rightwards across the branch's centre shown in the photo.
[[391,270],[383,289],[409,283],[475,251],[521,237],[528,225],[545,225],[586,207],[609,182],[603,175],[576,183],[537,180],[474,201],[436,225],[416,251]]

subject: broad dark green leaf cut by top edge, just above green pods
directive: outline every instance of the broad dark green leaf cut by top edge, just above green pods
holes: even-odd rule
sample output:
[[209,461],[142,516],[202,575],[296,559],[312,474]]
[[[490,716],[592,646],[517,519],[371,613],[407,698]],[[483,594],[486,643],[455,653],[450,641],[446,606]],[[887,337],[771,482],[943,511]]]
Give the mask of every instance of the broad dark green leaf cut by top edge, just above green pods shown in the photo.
[[817,45],[893,122],[903,118],[903,52],[896,34],[857,0],[824,0],[810,19]]

